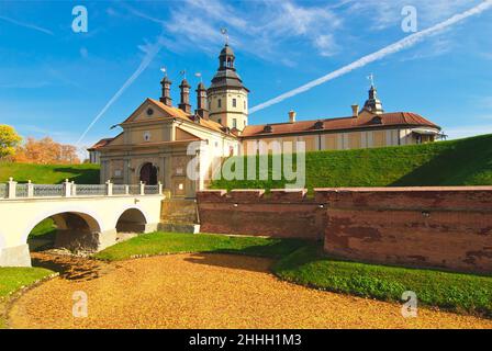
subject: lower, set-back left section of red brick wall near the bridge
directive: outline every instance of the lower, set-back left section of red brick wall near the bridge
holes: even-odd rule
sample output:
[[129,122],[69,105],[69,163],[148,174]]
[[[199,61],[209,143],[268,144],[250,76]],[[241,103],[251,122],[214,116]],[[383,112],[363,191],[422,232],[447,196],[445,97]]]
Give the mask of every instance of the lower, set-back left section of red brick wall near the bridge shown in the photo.
[[210,190],[197,193],[200,231],[322,239],[325,210],[305,191]]

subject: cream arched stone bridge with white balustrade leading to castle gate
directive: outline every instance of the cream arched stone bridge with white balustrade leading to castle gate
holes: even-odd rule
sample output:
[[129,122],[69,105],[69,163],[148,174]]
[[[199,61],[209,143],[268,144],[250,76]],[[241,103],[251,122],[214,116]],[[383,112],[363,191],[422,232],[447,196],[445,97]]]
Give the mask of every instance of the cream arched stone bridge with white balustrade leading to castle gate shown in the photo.
[[158,228],[163,186],[0,184],[0,267],[30,267],[27,237],[46,218],[57,226],[57,245],[99,251],[116,242],[116,234]]

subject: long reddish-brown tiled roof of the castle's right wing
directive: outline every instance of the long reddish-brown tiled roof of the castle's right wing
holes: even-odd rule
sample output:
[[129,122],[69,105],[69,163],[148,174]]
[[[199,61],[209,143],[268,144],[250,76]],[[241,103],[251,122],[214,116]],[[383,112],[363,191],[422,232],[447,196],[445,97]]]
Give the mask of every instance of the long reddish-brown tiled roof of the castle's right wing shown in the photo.
[[[379,118],[378,118],[379,117]],[[267,136],[279,134],[298,134],[322,131],[343,131],[343,129],[361,129],[378,128],[384,126],[425,126],[440,129],[440,127],[423,116],[411,112],[394,112],[373,115],[362,113],[358,117],[340,117],[314,121],[299,121],[294,123],[276,123],[262,125],[249,125],[243,133],[242,137]]]

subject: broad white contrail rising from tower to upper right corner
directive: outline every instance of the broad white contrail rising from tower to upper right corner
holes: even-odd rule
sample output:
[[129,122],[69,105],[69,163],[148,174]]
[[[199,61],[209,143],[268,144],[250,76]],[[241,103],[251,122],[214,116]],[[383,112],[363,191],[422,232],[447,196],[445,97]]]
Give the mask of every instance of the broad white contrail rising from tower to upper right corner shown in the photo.
[[391,44],[391,45],[380,49],[379,52],[376,52],[376,53],[367,55],[367,56],[365,56],[362,58],[359,58],[358,60],[351,63],[350,65],[347,65],[347,66],[345,66],[343,68],[339,68],[339,69],[337,69],[337,70],[335,70],[335,71],[333,71],[333,72],[331,72],[331,73],[328,73],[326,76],[323,76],[323,77],[321,77],[321,78],[318,78],[316,80],[310,81],[309,83],[305,83],[304,86],[301,86],[301,87],[295,88],[295,89],[293,89],[291,91],[288,91],[288,92],[286,92],[286,93],[283,93],[281,95],[278,95],[277,98],[273,98],[273,99],[268,100],[268,101],[266,101],[264,103],[260,103],[260,104],[251,107],[249,110],[249,113],[251,114],[251,113],[255,113],[255,112],[260,111],[262,109],[266,109],[268,106],[271,106],[273,104],[277,104],[277,103],[279,103],[279,102],[281,102],[281,101],[283,101],[286,99],[295,97],[297,94],[300,94],[300,93],[302,93],[304,91],[308,91],[308,90],[310,90],[310,89],[312,89],[314,87],[323,84],[324,82],[327,82],[329,80],[333,80],[335,78],[344,76],[344,75],[346,75],[346,73],[348,73],[348,72],[350,72],[350,71],[353,71],[353,70],[355,70],[357,68],[361,68],[361,67],[364,67],[364,66],[366,66],[366,65],[368,65],[370,63],[380,60],[380,59],[382,59],[383,57],[385,57],[388,55],[391,55],[391,54],[401,52],[401,50],[403,50],[405,48],[412,47],[415,44],[422,42],[425,37],[431,36],[433,34],[436,34],[436,33],[438,33],[438,32],[440,32],[440,31],[443,31],[443,30],[445,30],[445,29],[447,29],[447,27],[449,27],[449,26],[451,26],[451,25],[454,25],[454,24],[456,24],[458,22],[461,22],[465,19],[468,19],[469,16],[472,16],[472,15],[476,15],[476,14],[480,14],[483,11],[489,10],[491,7],[492,7],[492,0],[485,0],[482,3],[480,3],[479,5],[472,8],[470,10],[468,10],[468,11],[465,11],[462,13],[455,14],[450,19],[448,19],[448,20],[446,20],[444,22],[440,22],[440,23],[438,23],[438,24],[436,24],[436,25],[434,25],[434,26],[432,26],[432,27],[429,27],[429,29],[427,29],[425,31],[422,31],[422,32],[409,35],[405,38],[403,38],[403,39],[401,39],[401,41],[399,41],[399,42],[396,42],[394,44]]

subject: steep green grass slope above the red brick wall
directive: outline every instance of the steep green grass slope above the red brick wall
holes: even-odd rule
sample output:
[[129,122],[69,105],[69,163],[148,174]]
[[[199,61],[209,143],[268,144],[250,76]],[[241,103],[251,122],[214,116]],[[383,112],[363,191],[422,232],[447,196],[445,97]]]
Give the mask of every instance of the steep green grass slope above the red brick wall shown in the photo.
[[[244,158],[241,158],[244,159]],[[245,162],[247,165],[247,162]],[[214,180],[213,189],[275,189],[286,180]],[[245,166],[245,174],[247,166]],[[425,145],[306,154],[306,186],[492,185],[492,135]]]

